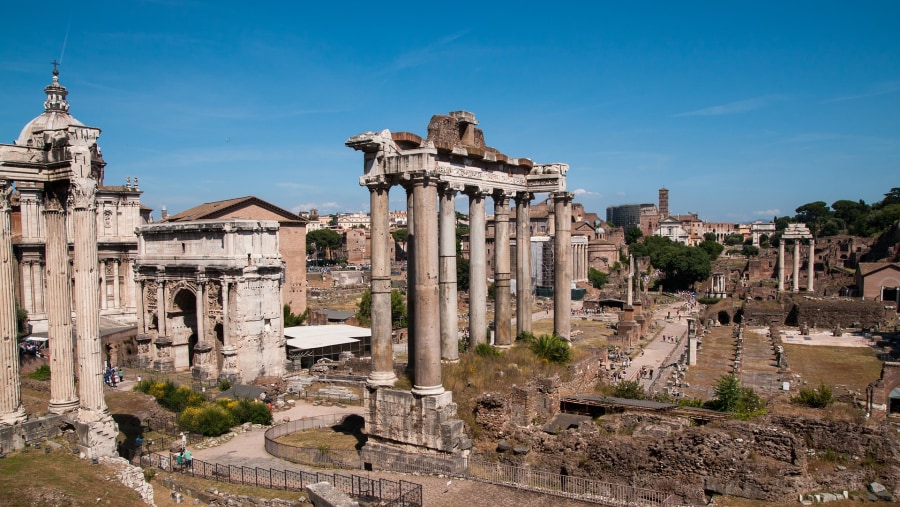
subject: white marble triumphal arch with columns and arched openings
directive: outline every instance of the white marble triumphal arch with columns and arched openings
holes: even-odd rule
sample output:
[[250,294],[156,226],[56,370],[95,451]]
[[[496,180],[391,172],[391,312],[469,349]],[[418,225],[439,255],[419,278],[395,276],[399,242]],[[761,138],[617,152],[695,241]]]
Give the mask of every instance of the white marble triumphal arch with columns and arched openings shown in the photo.
[[284,373],[276,221],[227,218],[138,228],[138,361],[194,378]]

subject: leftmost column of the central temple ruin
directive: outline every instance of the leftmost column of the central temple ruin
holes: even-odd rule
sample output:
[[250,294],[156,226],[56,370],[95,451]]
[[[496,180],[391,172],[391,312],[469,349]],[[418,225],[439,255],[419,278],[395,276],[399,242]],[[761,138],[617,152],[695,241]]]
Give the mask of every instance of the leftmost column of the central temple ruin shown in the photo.
[[390,187],[384,183],[369,185],[372,227],[372,371],[370,386],[393,386],[394,348],[391,341],[391,259],[390,259]]

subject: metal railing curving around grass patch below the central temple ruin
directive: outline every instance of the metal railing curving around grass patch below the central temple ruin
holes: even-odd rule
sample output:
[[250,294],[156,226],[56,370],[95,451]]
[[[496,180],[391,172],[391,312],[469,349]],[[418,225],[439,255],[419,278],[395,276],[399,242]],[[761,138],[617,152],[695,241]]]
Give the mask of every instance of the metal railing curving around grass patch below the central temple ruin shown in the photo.
[[319,468],[370,469],[371,463],[377,463],[380,470],[465,478],[602,505],[665,507],[675,504],[674,496],[662,491],[504,465],[477,457],[370,450],[361,455],[351,450],[296,447],[276,441],[297,431],[339,425],[354,415],[310,417],[269,428],[265,434],[266,451],[294,463]]

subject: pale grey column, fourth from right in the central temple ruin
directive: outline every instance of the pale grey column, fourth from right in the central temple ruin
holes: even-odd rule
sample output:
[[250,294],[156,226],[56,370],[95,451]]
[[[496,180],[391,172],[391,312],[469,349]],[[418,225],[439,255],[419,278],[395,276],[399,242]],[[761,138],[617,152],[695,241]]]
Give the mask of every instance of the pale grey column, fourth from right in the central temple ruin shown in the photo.
[[469,196],[469,348],[487,343],[487,251],[485,202],[481,189],[466,189]]

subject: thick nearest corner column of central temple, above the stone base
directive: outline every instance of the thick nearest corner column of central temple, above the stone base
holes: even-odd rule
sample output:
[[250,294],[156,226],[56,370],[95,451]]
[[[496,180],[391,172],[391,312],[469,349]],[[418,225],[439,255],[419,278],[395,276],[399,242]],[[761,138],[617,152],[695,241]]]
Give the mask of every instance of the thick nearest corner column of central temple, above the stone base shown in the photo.
[[413,394],[444,392],[441,384],[440,309],[438,296],[437,181],[426,175],[413,180],[416,205],[415,232],[416,314],[415,380]]

